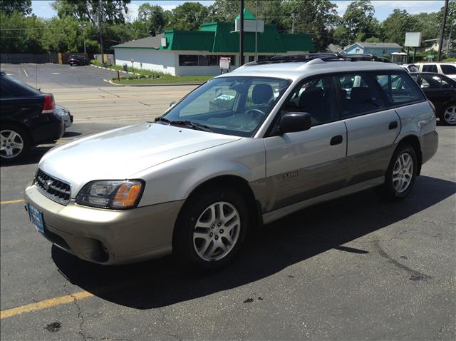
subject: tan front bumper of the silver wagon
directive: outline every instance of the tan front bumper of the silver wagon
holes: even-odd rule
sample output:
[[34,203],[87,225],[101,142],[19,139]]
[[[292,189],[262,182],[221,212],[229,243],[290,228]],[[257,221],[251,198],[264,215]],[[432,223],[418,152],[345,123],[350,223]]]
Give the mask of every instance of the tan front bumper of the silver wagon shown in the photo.
[[100,264],[134,263],[166,255],[184,200],[130,210],[61,205],[26,188],[26,203],[43,213],[44,237],[78,258]]

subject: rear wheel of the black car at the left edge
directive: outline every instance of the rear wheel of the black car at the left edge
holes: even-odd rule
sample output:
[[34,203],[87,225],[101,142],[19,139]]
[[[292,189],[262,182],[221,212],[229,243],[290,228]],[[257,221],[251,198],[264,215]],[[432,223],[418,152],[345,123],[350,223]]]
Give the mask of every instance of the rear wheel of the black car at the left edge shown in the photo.
[[30,150],[31,141],[24,128],[5,124],[0,131],[0,160],[2,162],[19,161]]

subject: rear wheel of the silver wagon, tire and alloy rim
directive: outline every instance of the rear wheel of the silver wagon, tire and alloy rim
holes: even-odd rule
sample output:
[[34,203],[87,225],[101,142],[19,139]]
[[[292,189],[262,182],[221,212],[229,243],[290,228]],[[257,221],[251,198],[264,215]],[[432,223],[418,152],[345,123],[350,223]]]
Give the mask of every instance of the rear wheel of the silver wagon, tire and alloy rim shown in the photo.
[[385,174],[385,183],[378,194],[387,200],[402,200],[413,188],[418,170],[413,146],[402,144],[395,150]]

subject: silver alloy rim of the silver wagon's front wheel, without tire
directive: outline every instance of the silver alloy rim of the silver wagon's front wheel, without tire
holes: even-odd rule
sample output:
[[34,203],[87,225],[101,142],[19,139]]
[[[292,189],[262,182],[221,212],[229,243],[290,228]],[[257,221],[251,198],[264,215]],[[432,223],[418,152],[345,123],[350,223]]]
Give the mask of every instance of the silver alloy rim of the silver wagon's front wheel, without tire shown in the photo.
[[228,255],[239,238],[241,218],[230,203],[219,201],[199,216],[193,231],[193,246],[199,258],[208,262]]

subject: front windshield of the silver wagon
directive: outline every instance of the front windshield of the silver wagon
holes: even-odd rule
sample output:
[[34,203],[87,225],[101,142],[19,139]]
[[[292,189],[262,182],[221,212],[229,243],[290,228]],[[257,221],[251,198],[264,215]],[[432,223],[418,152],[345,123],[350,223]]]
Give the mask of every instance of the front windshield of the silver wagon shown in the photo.
[[290,83],[267,77],[214,78],[170,108],[160,122],[252,137]]

